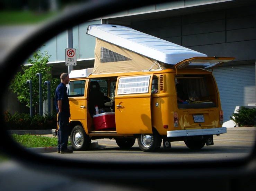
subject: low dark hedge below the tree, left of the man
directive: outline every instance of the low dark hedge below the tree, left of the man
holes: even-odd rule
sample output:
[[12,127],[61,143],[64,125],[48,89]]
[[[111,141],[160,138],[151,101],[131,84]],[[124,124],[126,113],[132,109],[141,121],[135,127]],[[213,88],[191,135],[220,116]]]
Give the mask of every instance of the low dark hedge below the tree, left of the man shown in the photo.
[[29,114],[15,112],[11,115],[7,110],[4,112],[4,121],[8,130],[42,130],[57,129],[57,115],[53,112],[50,115],[40,116],[36,114],[33,118]]

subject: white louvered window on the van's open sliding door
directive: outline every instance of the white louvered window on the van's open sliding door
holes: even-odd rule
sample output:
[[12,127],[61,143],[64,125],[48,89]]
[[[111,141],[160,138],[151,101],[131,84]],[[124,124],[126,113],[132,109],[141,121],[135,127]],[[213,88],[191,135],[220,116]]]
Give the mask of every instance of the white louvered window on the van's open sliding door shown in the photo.
[[117,95],[148,93],[150,76],[122,77],[119,79]]

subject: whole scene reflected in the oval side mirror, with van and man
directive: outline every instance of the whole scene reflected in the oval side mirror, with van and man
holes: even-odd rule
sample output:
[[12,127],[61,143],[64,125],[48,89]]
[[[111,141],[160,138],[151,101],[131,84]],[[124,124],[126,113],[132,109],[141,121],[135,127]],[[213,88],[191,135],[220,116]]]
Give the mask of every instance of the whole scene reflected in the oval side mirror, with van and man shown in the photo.
[[[57,158],[248,156],[256,132],[256,22],[248,14],[255,5],[245,2],[169,2],[67,29],[20,63],[6,92],[9,132]],[[3,28],[1,40],[16,30]]]

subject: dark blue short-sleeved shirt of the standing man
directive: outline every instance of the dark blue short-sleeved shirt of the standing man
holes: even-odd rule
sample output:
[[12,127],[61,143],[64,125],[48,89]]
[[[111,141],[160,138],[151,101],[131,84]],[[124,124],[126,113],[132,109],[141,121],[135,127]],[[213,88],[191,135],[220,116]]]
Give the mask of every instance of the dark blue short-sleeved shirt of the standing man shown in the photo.
[[68,92],[67,92],[67,87],[65,86],[64,83],[60,83],[60,85],[56,88],[55,91],[55,100],[54,104],[56,106],[56,110],[59,113],[59,108],[58,108],[58,100],[62,100],[62,111],[69,114],[70,117],[70,110],[69,110],[69,98],[68,98]]

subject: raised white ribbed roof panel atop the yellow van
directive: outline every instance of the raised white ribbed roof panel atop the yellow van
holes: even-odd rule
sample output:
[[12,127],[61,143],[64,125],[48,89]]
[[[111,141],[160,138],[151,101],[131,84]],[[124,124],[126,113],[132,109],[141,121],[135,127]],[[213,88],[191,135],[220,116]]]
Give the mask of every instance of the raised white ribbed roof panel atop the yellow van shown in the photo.
[[129,27],[112,24],[89,25],[87,34],[167,64],[176,64],[206,54],[153,37]]

